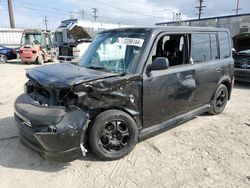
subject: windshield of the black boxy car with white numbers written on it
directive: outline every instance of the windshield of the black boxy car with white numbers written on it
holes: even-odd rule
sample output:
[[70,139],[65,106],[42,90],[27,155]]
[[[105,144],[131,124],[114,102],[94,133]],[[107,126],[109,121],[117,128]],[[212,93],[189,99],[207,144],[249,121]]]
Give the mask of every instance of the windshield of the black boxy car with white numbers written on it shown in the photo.
[[79,65],[108,72],[128,72],[138,58],[146,32],[101,33],[80,60]]

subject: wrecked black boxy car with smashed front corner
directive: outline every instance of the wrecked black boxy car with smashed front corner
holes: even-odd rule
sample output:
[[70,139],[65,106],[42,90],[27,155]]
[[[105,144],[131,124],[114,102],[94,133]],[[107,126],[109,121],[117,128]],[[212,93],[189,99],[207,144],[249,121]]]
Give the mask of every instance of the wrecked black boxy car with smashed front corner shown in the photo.
[[194,27],[103,31],[77,65],[27,70],[14,105],[20,140],[46,159],[71,161],[88,149],[116,160],[199,114],[219,114],[233,85],[229,36]]

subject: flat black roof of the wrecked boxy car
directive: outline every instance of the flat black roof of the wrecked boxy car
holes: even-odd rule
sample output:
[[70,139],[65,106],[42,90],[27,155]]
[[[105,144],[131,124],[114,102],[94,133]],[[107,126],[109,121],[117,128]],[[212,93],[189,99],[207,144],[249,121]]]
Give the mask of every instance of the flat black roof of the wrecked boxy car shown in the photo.
[[122,31],[152,31],[152,32],[217,32],[226,31],[225,28],[216,27],[188,27],[188,26],[151,26],[151,27],[126,27],[102,31],[108,32],[122,32]]

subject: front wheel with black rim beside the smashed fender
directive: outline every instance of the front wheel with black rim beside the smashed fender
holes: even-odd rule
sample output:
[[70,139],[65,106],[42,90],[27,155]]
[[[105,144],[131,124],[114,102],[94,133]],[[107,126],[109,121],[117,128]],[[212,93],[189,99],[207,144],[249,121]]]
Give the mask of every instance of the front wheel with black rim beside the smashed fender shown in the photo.
[[103,160],[116,160],[128,155],[138,141],[134,119],[120,110],[100,113],[90,127],[89,146]]

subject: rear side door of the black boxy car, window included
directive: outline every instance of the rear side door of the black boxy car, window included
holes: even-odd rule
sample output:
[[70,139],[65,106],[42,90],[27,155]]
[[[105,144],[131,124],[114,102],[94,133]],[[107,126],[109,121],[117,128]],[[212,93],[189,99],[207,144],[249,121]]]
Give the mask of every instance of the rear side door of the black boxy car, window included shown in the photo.
[[211,101],[222,77],[217,32],[193,33],[191,47],[191,58],[196,69],[197,81],[192,106],[197,108]]

